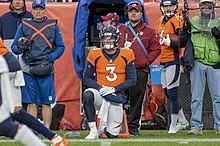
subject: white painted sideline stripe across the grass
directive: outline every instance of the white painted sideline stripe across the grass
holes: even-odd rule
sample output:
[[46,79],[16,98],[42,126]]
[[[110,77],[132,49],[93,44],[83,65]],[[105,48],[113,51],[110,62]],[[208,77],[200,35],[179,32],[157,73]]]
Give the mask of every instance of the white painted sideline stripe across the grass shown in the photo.
[[[101,142],[101,143],[112,143],[112,142],[220,142],[220,138],[213,138],[213,139],[98,139],[98,140],[86,140],[86,139],[67,139],[68,142]],[[49,142],[49,140],[43,140],[44,142]],[[0,143],[11,143],[15,142],[14,140],[1,140]],[[107,146],[107,145],[104,145]]]

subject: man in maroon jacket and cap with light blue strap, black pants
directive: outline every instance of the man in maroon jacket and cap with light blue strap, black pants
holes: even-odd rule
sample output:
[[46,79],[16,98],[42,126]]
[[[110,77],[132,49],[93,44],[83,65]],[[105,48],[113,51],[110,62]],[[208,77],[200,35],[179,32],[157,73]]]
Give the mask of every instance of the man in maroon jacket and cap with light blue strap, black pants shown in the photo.
[[[137,83],[129,89],[130,108],[127,113],[128,127],[131,135],[140,135],[140,118],[145,95],[149,65],[160,55],[160,44],[156,31],[141,21],[143,6],[139,2],[131,2],[126,7],[128,23],[120,25],[120,47],[130,48],[135,54]],[[130,27],[129,27],[130,25]],[[138,41],[139,37],[142,44]],[[143,48],[143,47],[144,48]]]

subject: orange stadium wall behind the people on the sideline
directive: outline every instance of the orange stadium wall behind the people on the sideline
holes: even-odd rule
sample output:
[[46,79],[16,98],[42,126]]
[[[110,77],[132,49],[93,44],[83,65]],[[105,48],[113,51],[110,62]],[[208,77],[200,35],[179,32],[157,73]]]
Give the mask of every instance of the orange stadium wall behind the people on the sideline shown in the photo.
[[[65,104],[66,110],[60,124],[60,129],[80,129],[82,116],[80,115],[80,80],[74,71],[72,59],[73,42],[73,21],[77,8],[77,2],[72,3],[46,3],[48,18],[58,19],[65,43],[64,55],[55,62],[55,88],[57,103]],[[0,3],[0,15],[7,12],[8,3]],[[31,10],[31,2],[26,2],[27,10]],[[160,17],[158,2],[145,2],[145,10],[151,27],[156,28],[157,20]],[[158,96],[163,95],[161,87],[155,87]],[[157,96],[155,95],[155,96]]]

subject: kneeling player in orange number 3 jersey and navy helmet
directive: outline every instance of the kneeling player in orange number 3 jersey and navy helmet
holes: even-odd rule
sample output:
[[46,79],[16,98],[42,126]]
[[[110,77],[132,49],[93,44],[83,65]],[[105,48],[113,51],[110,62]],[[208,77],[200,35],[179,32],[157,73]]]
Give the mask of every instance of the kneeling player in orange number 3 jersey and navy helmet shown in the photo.
[[[124,90],[136,83],[134,53],[131,49],[118,48],[118,29],[106,26],[99,37],[102,47],[90,50],[83,75],[83,83],[88,87],[83,94],[83,108],[90,127],[85,139],[98,139],[98,133],[117,138],[126,100]],[[99,130],[96,110],[99,110]]]

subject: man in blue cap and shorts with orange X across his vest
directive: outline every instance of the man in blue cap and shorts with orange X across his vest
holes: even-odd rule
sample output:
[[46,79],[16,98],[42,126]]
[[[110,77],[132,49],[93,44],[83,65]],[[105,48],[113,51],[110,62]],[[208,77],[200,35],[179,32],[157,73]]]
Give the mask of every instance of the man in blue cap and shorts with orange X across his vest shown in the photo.
[[64,43],[57,20],[45,17],[43,0],[32,3],[33,19],[25,19],[18,27],[12,44],[15,54],[22,54],[22,70],[26,85],[22,88],[22,101],[27,111],[37,116],[37,105],[42,105],[42,117],[47,128],[52,120],[56,100],[54,90],[54,61],[64,52]]

